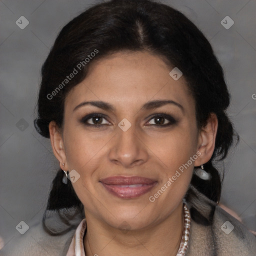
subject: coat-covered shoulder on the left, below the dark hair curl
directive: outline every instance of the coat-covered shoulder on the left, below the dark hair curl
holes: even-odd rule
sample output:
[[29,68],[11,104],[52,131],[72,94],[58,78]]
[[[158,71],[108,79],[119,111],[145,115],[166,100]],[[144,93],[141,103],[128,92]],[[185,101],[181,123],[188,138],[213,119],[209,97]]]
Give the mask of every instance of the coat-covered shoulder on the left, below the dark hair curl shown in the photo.
[[47,234],[42,223],[37,221],[29,226],[24,234],[15,235],[0,250],[1,256],[63,256],[71,243],[75,229],[63,235],[52,236]]

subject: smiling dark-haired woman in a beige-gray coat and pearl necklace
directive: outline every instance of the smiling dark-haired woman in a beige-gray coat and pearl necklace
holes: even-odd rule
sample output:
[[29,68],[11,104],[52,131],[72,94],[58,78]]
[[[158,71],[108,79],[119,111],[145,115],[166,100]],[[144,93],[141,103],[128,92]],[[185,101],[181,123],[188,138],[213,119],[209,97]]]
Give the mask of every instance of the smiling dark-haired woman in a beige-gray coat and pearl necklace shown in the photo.
[[61,169],[42,225],[10,255],[256,255],[253,234],[217,205],[229,93],[183,14],[149,0],[94,5],[62,28],[41,74],[35,127]]

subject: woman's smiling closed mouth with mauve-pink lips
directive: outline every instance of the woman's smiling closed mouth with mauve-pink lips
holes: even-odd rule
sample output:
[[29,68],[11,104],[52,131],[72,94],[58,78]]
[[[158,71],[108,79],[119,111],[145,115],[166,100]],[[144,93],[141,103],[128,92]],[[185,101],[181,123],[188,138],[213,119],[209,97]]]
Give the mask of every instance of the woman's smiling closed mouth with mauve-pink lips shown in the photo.
[[157,181],[140,176],[112,176],[100,180],[104,188],[119,198],[136,198],[149,192]]

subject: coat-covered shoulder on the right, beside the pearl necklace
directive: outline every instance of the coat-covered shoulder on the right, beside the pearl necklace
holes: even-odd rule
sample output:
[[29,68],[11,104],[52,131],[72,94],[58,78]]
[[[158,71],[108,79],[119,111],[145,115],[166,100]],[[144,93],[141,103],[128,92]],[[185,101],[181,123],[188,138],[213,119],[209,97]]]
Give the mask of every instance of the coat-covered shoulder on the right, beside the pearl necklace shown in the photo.
[[191,187],[187,201],[191,219],[187,256],[256,256],[256,237],[214,201]]

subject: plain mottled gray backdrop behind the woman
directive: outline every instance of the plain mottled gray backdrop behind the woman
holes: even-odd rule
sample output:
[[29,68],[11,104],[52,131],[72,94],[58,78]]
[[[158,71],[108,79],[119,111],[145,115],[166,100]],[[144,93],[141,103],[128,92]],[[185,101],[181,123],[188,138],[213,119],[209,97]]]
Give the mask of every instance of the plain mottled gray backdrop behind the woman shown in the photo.
[[[232,97],[228,113],[241,140],[220,164],[225,167],[221,202],[256,230],[256,1],[162,2],[203,31],[224,68]],[[49,140],[33,127],[40,66],[60,28],[92,3],[0,0],[0,236],[5,244],[21,235],[15,229],[21,220],[31,225],[41,219],[58,167]],[[220,23],[227,15],[234,21],[229,29]],[[24,29],[15,24],[20,16],[29,21]]]

